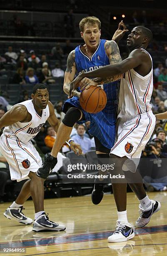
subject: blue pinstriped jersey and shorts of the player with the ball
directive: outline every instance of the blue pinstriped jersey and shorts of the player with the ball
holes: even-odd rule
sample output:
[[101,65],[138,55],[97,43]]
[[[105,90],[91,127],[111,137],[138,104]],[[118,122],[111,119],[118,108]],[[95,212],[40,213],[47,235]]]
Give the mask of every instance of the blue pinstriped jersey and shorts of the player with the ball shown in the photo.
[[[100,67],[109,65],[109,59],[105,53],[105,42],[106,40],[101,39],[97,47],[97,50],[91,58],[86,56],[81,51],[81,45],[75,48],[75,64],[76,64],[76,75],[81,72],[88,72]],[[77,97],[72,97],[65,101],[63,105],[63,112],[67,112],[67,108],[70,105],[75,106],[82,110],[85,115],[85,120],[78,123],[85,123],[90,121],[90,134],[97,137],[103,146],[111,149],[115,143],[115,124],[117,115],[117,92],[119,88],[119,81],[112,82],[109,84],[103,84],[101,87],[105,90],[107,95],[107,104],[105,109],[96,114],[87,113],[80,106],[80,101]],[[80,90],[80,88],[78,88]]]

